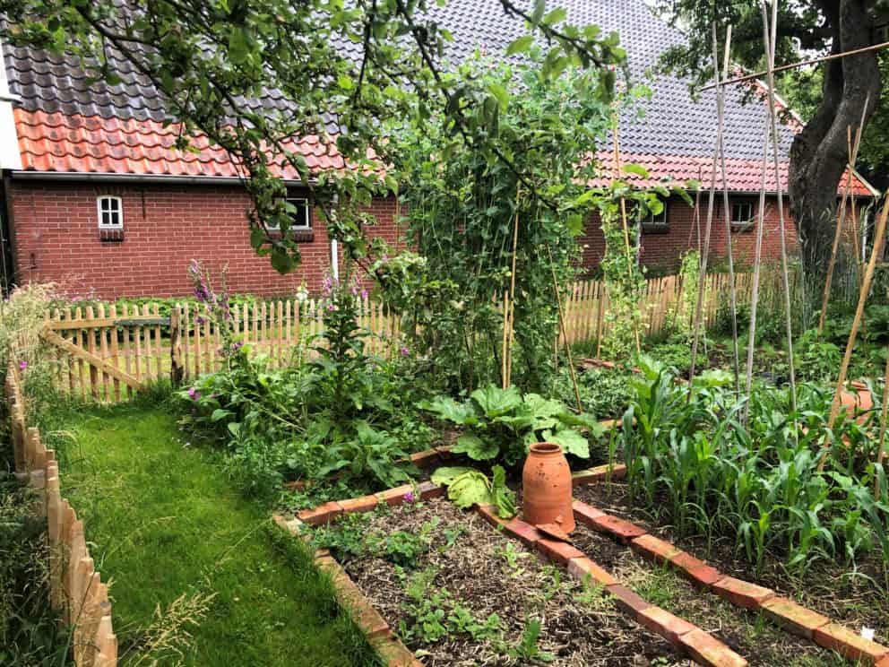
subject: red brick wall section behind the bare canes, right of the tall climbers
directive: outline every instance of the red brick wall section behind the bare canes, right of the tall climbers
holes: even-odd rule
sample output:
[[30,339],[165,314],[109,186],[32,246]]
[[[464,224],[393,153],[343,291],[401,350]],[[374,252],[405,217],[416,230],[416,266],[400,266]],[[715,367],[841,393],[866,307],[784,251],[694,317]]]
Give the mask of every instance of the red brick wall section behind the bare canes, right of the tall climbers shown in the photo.
[[[729,199],[729,203],[734,197]],[[754,203],[754,218],[757,217],[758,197],[744,197],[745,201]],[[787,224],[788,252],[797,250],[797,230],[785,202],[785,222]],[[703,243],[704,227],[707,219],[707,195],[701,197],[701,239]],[[646,232],[642,235],[642,262],[646,266],[659,269],[673,269],[678,265],[679,256],[687,247],[697,247],[697,230],[695,226],[695,208],[689,206],[678,197],[670,198],[667,204],[668,232]],[[778,204],[775,197],[765,200],[765,230],[763,235],[763,262],[773,263],[781,259],[781,235],[778,216]],[[714,206],[713,224],[710,239],[711,262],[720,261],[726,256],[725,218],[722,214],[721,195]],[[691,243],[689,244],[689,239]],[[753,263],[756,228],[749,230],[732,230],[732,253],[735,262],[741,266]],[[598,213],[591,217],[586,225],[586,232],[581,237],[583,246],[583,267],[591,269],[599,265],[605,252],[605,238],[600,229]]]

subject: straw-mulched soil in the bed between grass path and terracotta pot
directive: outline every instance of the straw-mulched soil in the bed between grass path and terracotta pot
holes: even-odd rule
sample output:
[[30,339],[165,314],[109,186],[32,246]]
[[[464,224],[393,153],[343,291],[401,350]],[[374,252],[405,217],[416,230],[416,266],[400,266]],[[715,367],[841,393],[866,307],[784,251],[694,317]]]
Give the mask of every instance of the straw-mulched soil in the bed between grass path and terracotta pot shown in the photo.
[[549,664],[693,664],[679,658],[665,640],[627,619],[600,590],[584,588],[563,569],[544,564],[521,542],[498,533],[479,515],[462,512],[444,498],[372,515],[367,534],[418,534],[434,519],[439,524],[433,531],[431,549],[412,569],[395,567],[380,558],[344,563],[352,579],[402,637],[407,637],[410,632],[406,630],[416,623],[406,609],[410,602],[406,582],[430,568],[435,576],[428,596],[446,589],[451,602],[468,608],[475,619],[498,615],[503,624],[499,639],[473,640],[452,634],[425,644],[408,638],[407,645],[419,650],[429,667],[534,664],[509,654],[520,643],[529,618],[540,621],[540,650],[555,655]]

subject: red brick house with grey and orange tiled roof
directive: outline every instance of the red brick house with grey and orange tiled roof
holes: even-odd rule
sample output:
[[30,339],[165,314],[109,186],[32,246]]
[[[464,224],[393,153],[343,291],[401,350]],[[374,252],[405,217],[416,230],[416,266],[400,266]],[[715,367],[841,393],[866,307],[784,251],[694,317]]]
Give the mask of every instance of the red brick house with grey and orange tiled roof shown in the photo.
[[[617,30],[629,54],[636,81],[657,62],[664,48],[683,39],[661,22],[644,0],[560,0],[568,21],[596,23]],[[502,53],[523,30],[505,18],[496,0],[453,0],[433,10],[453,33],[453,60],[476,48]],[[112,61],[116,55],[111,54]],[[303,264],[296,273],[275,273],[249,244],[249,200],[228,156],[206,142],[198,152],[173,147],[176,126],[164,126],[164,100],[150,82],[117,59],[122,82],[90,82],[70,58],[22,48],[5,48],[0,68],[0,168],[3,169],[3,255],[5,282],[53,280],[73,292],[95,290],[100,296],[173,296],[187,294],[186,265],[203,259],[218,269],[229,265],[229,285],[237,292],[281,294],[305,284],[319,287],[336,262],[337,247],[324,225],[307,207],[300,213]],[[712,91],[692,100],[683,80],[660,76],[648,82],[651,100],[644,116],[621,120],[621,158],[641,163],[652,182],[709,183],[715,135]],[[726,109],[728,169],[736,253],[753,255],[757,193],[766,109],[743,103],[743,91],[729,91]],[[275,105],[280,100],[262,100]],[[786,183],[786,156],[793,126],[781,127],[781,183],[770,175],[765,224],[766,259],[774,259],[777,215],[775,193]],[[298,141],[311,169],[340,166],[339,156],[317,137]],[[605,148],[605,147],[601,147]],[[601,153],[608,164],[610,153]],[[281,173],[299,200],[296,174]],[[645,183],[639,185],[644,186]],[[860,197],[875,195],[857,179]],[[705,197],[701,208],[705,212]],[[397,237],[393,197],[371,207],[378,224],[369,230],[394,243]],[[717,216],[720,215],[719,206]],[[703,213],[702,216],[703,217]],[[725,231],[717,217],[712,252],[724,253]],[[790,219],[789,219],[790,220]],[[643,262],[675,264],[695,247],[695,211],[681,200],[667,202],[657,220],[643,226]],[[702,223],[703,224],[703,223]],[[702,230],[703,234],[703,230]],[[790,247],[796,233],[790,222]],[[591,220],[583,244],[583,264],[593,268],[603,241]]]

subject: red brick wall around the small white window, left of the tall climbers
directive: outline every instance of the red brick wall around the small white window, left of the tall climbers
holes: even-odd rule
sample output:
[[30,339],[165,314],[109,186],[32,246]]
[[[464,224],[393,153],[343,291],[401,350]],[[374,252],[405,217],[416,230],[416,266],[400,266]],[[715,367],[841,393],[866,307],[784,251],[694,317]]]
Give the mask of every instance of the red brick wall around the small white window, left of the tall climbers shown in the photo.
[[[124,209],[124,240],[99,240],[96,197],[116,195]],[[330,265],[324,221],[313,216],[315,238],[300,245],[295,273],[276,273],[250,246],[249,197],[238,186],[119,185],[13,181],[10,198],[16,281],[60,282],[72,294],[94,289],[103,298],[191,293],[186,266],[201,259],[214,275],[229,264],[229,290],[278,295],[305,284],[320,289]],[[371,236],[393,243],[395,204],[371,207],[379,227]]]

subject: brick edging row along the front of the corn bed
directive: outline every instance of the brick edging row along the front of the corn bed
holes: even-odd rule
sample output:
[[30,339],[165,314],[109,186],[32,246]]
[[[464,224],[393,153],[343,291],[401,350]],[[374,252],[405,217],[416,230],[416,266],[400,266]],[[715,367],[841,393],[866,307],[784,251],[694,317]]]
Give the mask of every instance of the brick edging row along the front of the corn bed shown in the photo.
[[850,661],[889,667],[889,647],[860,637],[850,629],[832,623],[826,616],[779,596],[771,588],[724,575],[639,525],[580,501],[575,500],[573,507],[576,521],[628,545],[643,558],[677,569],[696,587],[711,591],[738,607],[762,611],[787,632],[835,651]]

